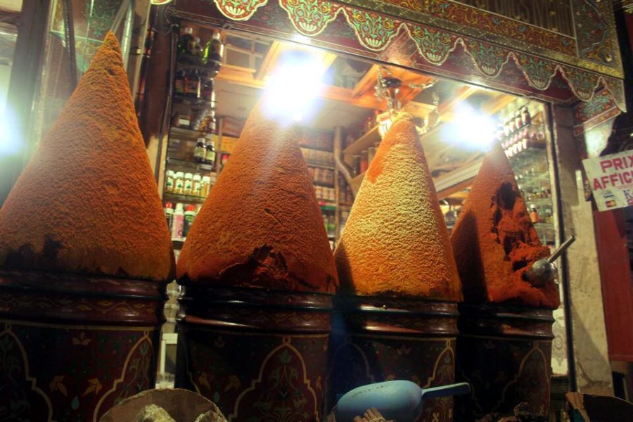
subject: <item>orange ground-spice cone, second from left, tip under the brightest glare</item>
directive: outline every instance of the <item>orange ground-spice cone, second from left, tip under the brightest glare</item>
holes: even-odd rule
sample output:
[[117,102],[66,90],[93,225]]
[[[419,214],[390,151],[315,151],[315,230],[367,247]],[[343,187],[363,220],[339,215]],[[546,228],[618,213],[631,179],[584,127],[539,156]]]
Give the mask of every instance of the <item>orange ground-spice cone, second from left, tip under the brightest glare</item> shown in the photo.
[[333,293],[332,251],[295,132],[263,104],[187,235],[179,282]]

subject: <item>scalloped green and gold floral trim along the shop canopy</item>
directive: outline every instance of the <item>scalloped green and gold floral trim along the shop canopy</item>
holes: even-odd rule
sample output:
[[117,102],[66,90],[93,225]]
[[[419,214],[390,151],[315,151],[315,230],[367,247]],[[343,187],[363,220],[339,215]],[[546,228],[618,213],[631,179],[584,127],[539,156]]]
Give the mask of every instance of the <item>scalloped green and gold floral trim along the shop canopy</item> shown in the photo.
[[[268,4],[269,0],[212,0],[224,17],[230,20],[248,20],[257,8]],[[271,0],[274,1],[274,0]],[[347,24],[356,34],[364,49],[380,52],[388,49],[392,40],[401,32],[414,42],[420,56],[431,65],[442,65],[458,44],[471,57],[473,65],[483,77],[494,79],[504,67],[513,63],[523,72],[528,85],[538,91],[546,91],[557,73],[568,83],[572,93],[582,101],[590,101],[596,89],[606,87],[620,110],[625,111],[625,94],[622,80],[583,70],[571,65],[532,56],[528,53],[492,44],[478,39],[469,39],[447,30],[440,30],[422,23],[395,18],[383,13],[338,4],[329,0],[278,0],[286,11],[290,22],[299,34],[316,37],[324,32],[329,23],[343,13]],[[347,1],[347,3],[354,3]],[[375,2],[371,2],[373,4]],[[382,4],[382,6],[394,6]],[[384,7],[380,8],[384,11]],[[409,9],[404,9],[409,11]],[[415,11],[409,11],[416,13]],[[404,30],[403,30],[404,28]]]

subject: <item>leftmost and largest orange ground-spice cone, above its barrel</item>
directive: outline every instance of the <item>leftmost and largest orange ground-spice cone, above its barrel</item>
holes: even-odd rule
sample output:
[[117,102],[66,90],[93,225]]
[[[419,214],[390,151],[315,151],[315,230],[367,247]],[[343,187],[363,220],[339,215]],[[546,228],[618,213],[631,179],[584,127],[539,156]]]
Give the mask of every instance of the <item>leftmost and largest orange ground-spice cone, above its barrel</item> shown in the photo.
[[112,33],[0,210],[0,267],[173,275],[170,233]]

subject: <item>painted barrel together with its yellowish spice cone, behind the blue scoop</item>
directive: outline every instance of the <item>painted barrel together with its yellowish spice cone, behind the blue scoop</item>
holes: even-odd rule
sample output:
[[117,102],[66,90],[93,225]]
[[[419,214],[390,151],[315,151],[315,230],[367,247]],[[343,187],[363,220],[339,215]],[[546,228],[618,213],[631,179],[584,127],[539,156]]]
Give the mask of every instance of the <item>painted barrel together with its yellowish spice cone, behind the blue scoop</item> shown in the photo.
[[[335,250],[328,376],[331,407],[358,385],[454,381],[461,291],[449,237],[417,130],[395,120],[376,151]],[[336,316],[340,317],[336,318]],[[425,401],[420,421],[452,421],[452,398]]]

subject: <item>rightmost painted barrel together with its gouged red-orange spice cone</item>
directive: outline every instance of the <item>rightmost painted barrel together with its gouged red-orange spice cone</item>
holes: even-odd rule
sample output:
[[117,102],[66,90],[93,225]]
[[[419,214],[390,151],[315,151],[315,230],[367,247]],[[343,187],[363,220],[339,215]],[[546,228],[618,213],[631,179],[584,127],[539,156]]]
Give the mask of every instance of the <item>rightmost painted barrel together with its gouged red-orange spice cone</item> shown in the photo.
[[558,286],[532,277],[549,256],[530,221],[514,173],[496,146],[484,158],[451,235],[465,299],[460,307],[457,378],[471,383],[456,415],[549,411],[551,309]]

